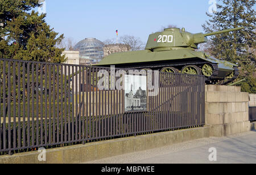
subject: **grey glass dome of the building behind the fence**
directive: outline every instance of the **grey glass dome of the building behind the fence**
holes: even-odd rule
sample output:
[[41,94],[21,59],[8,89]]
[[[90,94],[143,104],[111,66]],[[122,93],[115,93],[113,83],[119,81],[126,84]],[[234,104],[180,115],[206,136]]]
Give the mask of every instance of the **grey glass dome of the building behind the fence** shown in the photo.
[[76,51],[80,51],[80,56],[89,57],[92,62],[100,61],[104,56],[104,43],[96,38],[85,38],[79,41],[74,47]]

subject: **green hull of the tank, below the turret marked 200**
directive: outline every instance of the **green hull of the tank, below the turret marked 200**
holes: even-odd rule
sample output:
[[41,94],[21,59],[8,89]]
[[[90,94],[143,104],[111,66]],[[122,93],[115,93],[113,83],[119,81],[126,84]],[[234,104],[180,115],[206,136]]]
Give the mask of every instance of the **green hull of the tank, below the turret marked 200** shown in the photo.
[[[152,69],[159,71],[163,70],[164,68],[172,67],[175,68],[175,70],[179,70],[181,73],[184,66],[193,65],[198,69],[203,70],[203,66],[205,64],[211,66],[213,69],[211,76],[205,76],[205,82],[207,84],[218,84],[220,81],[225,80],[225,78],[230,74],[234,72],[236,72],[234,74],[237,74],[238,72],[236,64],[215,59],[204,52],[197,52],[189,49],[176,49],[161,52],[144,50],[114,53],[105,57],[97,64],[97,66],[115,65],[117,68]],[[203,73],[200,72],[200,74]],[[230,78],[229,82],[232,78]],[[220,84],[223,83],[224,82],[220,82]]]

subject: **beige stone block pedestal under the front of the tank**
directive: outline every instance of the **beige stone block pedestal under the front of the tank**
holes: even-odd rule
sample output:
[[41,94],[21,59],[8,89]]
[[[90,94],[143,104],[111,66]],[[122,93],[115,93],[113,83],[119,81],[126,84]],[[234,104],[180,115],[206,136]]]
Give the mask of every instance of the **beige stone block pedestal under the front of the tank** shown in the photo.
[[205,122],[210,136],[250,131],[249,93],[237,86],[205,86]]

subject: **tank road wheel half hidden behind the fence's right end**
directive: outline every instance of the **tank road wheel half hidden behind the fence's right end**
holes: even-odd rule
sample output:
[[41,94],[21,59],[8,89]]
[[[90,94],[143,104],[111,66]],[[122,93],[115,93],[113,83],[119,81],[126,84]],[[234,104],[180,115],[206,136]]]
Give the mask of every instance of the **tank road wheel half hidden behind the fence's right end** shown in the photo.
[[183,74],[187,74],[187,76],[183,76],[182,81],[185,85],[191,85],[191,84],[196,84],[198,80],[196,77],[194,76],[189,76],[189,75],[201,75],[201,69],[196,66],[196,65],[187,65],[184,66],[181,69],[181,73]]

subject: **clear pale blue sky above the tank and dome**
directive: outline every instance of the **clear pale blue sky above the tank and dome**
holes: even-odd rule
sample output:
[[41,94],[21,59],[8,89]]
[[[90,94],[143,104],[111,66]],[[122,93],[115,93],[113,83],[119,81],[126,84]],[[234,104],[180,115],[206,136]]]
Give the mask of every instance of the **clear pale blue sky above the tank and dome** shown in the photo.
[[146,44],[148,35],[175,24],[187,31],[203,32],[209,0],[46,0],[47,23],[65,37],[80,41],[133,35]]

